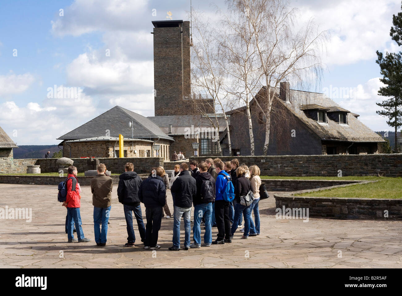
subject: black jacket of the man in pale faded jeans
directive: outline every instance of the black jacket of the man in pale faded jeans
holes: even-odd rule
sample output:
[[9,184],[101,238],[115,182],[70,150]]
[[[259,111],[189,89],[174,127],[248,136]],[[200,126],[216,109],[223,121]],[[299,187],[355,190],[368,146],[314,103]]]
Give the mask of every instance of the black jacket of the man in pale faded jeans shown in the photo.
[[180,173],[180,178],[174,180],[170,189],[174,195],[174,205],[177,207],[189,208],[193,204],[193,198],[197,194],[195,179],[188,170]]

